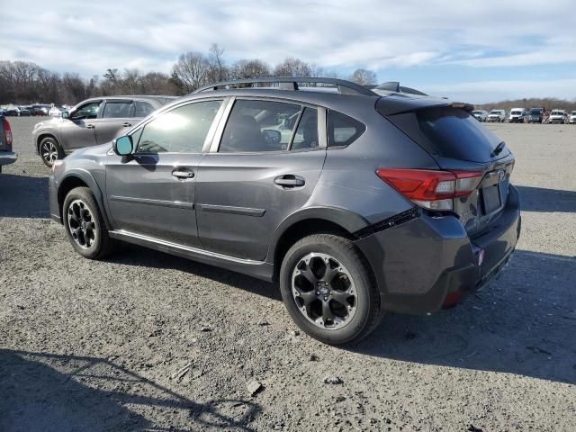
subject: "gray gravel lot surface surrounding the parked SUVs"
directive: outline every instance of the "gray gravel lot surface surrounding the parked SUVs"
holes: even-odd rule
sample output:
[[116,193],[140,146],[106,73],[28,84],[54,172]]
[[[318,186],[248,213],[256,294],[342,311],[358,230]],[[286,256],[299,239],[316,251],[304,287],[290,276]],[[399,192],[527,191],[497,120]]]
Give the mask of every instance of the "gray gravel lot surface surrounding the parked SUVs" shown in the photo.
[[488,125],[523,199],[507,270],[337,348],[300,334],[274,285],[139,247],[78,257],[46,219],[37,120],[10,121],[0,430],[576,430],[576,126]]

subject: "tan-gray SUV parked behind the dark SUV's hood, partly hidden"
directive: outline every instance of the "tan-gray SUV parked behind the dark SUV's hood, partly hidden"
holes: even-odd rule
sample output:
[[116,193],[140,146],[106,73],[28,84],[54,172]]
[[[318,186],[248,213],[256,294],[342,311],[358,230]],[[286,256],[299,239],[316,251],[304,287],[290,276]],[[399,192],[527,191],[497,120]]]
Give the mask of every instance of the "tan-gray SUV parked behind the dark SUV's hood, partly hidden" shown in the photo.
[[77,148],[109,142],[151,112],[171,102],[172,96],[106,96],[87,99],[61,118],[40,121],[32,131],[37,155],[47,166]]

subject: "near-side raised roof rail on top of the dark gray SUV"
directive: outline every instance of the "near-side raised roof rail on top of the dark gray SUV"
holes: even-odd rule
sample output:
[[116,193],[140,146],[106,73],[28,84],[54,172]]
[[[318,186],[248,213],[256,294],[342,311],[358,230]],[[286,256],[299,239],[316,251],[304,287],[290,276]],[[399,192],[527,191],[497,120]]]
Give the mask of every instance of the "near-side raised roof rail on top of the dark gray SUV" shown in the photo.
[[238,79],[235,81],[224,81],[221,83],[214,83],[206,85],[195,90],[193,93],[202,93],[209,90],[218,90],[219,87],[230,87],[232,85],[248,85],[251,87],[257,86],[256,84],[273,83],[278,84],[282,90],[298,90],[298,83],[302,84],[330,84],[338,88],[340,94],[364,94],[365,96],[376,96],[373,91],[367,89],[362,85],[357,85],[345,79],[337,78],[320,78],[318,76],[270,76],[266,78],[250,78]]

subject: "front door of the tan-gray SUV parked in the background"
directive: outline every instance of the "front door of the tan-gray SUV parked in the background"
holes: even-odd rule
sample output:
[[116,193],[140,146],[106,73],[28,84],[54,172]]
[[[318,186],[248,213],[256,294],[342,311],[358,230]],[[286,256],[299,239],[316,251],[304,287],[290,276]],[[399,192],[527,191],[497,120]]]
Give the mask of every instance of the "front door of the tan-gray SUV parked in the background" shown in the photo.
[[60,126],[61,145],[70,152],[76,148],[85,148],[96,144],[95,129],[102,101],[92,101],[80,105],[69,112],[69,117]]

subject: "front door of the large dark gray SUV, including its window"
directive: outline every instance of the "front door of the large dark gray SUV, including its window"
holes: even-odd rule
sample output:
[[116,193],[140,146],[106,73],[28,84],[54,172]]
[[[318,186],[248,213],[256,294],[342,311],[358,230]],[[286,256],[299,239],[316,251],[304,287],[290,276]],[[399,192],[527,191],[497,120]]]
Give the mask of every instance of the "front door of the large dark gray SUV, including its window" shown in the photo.
[[197,169],[221,105],[221,100],[178,105],[132,134],[133,155],[109,156],[106,198],[114,229],[199,246]]

